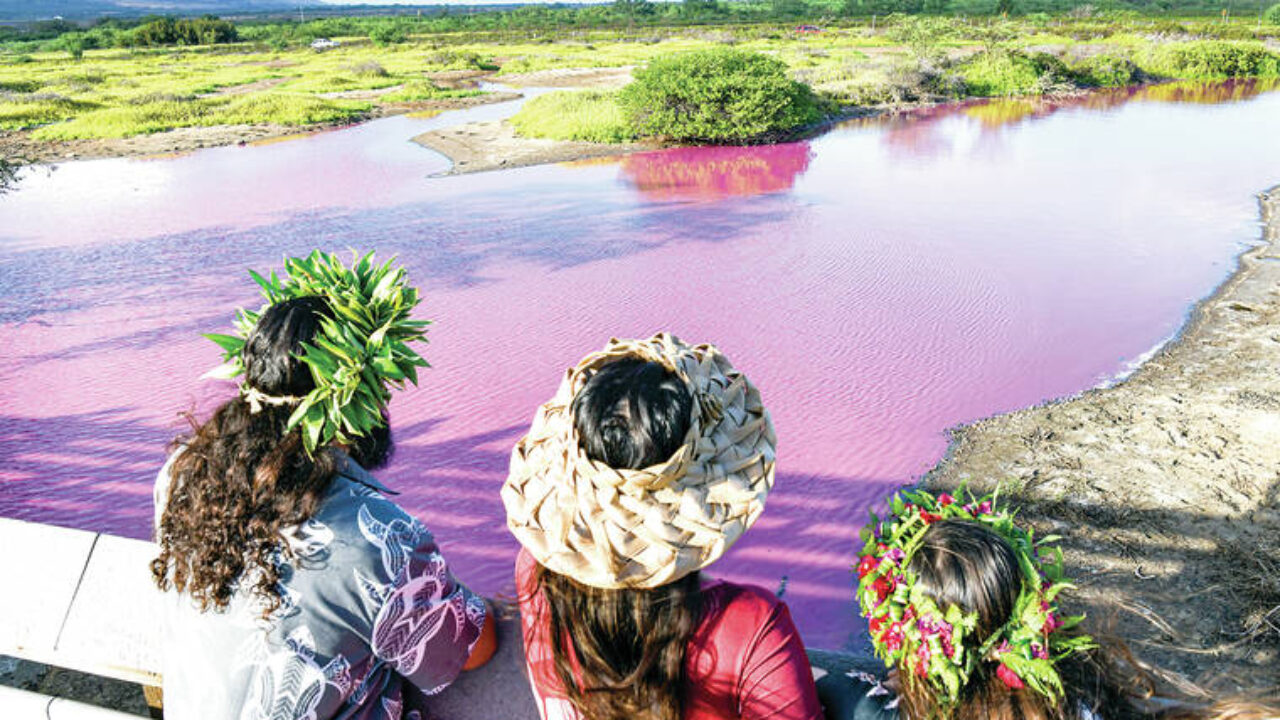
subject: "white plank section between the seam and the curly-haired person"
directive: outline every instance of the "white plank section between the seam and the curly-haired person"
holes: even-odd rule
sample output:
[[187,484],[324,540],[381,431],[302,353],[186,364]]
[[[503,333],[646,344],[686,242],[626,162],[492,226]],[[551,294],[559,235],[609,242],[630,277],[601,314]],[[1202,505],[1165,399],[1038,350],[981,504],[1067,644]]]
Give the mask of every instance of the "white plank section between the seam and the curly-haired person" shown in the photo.
[[150,542],[100,536],[58,641],[56,664],[143,685],[160,684],[160,601]]

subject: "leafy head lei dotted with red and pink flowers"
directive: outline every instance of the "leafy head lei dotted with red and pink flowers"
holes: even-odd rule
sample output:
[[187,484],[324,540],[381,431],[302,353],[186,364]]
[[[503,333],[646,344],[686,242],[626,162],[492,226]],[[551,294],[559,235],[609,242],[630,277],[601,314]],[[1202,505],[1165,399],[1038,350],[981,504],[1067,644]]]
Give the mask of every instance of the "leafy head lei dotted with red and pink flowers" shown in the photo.
[[[865,546],[858,564],[858,602],[869,619],[876,656],[888,667],[901,666],[933,691],[942,706],[954,705],[960,689],[984,661],[998,662],[996,675],[1011,689],[1030,687],[1052,700],[1062,697],[1055,662],[1096,647],[1088,635],[1066,633],[1083,615],[1064,618],[1055,603],[1071,585],[1062,580],[1062,551],[1050,536],[1036,541],[1014,524],[1014,512],[996,507],[995,493],[956,497],[924,491],[901,492],[883,521],[872,512],[861,530]],[[938,607],[908,570],[924,542],[924,530],[940,520],[979,523],[1014,550],[1023,575],[1021,592],[1009,621],[986,639],[975,638],[977,612]],[[908,680],[910,682],[910,680]]]

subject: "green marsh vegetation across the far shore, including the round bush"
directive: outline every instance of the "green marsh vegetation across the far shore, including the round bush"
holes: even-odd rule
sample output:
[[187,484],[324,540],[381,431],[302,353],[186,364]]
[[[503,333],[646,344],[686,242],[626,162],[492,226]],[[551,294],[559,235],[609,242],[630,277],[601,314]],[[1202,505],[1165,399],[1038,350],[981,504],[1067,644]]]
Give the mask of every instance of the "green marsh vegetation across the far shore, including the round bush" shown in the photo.
[[[1280,38],[1280,24],[1258,23],[1257,14],[1224,18],[1217,5],[1210,17],[1197,14],[1207,4],[1166,15],[1115,4],[1064,13],[1050,0],[1014,0],[1014,13],[1002,18],[991,13],[1007,0],[918,3],[632,0],[306,23],[36,23],[0,28],[0,131],[70,138],[230,122],[343,122],[379,106],[439,108],[476,95],[453,90],[458,73],[493,72],[502,81],[632,67],[640,81],[621,95],[530,102],[521,132],[744,142],[812,123],[837,105],[1280,74],[1280,54],[1267,47]],[[892,12],[902,9],[920,14]],[[804,26],[818,13],[820,27]],[[337,46],[312,50],[317,37]],[[730,69],[740,73],[733,81]],[[438,74],[444,72],[454,74]]]

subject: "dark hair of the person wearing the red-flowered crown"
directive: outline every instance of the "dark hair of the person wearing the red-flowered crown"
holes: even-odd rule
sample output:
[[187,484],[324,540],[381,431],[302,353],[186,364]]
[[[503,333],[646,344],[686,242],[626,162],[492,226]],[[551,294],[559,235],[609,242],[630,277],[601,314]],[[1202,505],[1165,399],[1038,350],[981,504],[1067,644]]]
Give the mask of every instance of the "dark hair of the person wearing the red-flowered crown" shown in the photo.
[[[982,643],[1012,615],[1023,573],[1012,547],[991,529],[965,520],[942,520],[924,533],[908,569],[940,607],[956,605],[978,614],[974,642]],[[1258,703],[1224,702],[1196,706],[1156,696],[1156,684],[1124,643],[1097,638],[1101,647],[1057,664],[1066,691],[1053,702],[1030,688],[1010,689],[996,675],[996,662],[983,661],[970,675],[952,708],[936,703],[933,692],[911,673],[899,669],[904,720],[992,719],[1078,720],[1087,707],[1106,720],[1275,716]],[[1155,701],[1155,702],[1152,702]]]

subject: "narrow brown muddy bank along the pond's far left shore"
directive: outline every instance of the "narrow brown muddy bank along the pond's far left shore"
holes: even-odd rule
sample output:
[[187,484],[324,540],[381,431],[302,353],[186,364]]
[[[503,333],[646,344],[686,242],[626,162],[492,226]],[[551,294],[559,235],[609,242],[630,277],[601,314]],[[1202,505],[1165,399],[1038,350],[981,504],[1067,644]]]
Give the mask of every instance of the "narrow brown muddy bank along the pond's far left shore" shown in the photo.
[[90,160],[97,158],[173,155],[192,152],[202,147],[252,145],[255,142],[303,137],[388,115],[443,113],[445,110],[460,110],[492,102],[507,102],[517,97],[520,97],[520,94],[516,92],[489,92],[471,97],[384,104],[375,106],[356,122],[319,123],[307,127],[275,124],[192,127],[133,137],[67,141],[36,140],[31,136],[31,131],[0,131],[0,158],[15,159],[23,163],[64,163],[68,160]]

